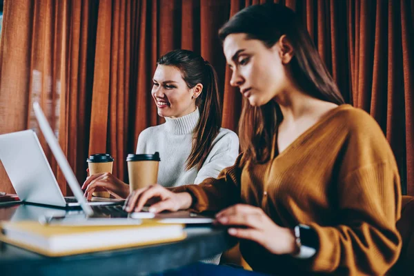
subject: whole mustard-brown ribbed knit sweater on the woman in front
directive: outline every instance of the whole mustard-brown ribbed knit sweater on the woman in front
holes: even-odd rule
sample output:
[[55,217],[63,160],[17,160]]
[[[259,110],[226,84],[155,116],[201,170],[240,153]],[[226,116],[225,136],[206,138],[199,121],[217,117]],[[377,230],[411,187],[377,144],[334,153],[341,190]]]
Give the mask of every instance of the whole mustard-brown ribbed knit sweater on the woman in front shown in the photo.
[[401,191],[393,152],[375,120],[349,105],[328,112],[265,164],[240,155],[218,179],[175,188],[181,191],[193,195],[197,211],[241,202],[259,206],[279,226],[301,223],[316,230],[319,250],[306,260],[240,241],[253,270],[384,275],[400,253],[395,223]]

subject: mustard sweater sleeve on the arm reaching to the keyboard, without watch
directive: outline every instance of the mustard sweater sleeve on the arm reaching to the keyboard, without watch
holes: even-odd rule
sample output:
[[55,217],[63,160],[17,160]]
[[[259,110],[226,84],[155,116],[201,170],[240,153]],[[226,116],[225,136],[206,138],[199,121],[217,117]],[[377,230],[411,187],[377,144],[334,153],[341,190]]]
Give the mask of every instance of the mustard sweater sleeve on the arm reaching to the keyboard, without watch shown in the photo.
[[187,192],[193,197],[190,206],[196,212],[219,211],[240,201],[240,184],[242,176],[242,157],[237,157],[235,164],[221,170],[217,179],[205,179],[199,185],[185,185],[174,188],[175,193]]

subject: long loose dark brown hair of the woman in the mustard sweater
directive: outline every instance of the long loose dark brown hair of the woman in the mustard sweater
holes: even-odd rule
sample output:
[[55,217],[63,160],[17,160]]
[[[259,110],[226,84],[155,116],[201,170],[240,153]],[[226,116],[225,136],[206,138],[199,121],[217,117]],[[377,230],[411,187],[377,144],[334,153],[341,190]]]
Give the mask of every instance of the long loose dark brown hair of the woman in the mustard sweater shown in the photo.
[[[224,41],[229,34],[236,33],[244,33],[248,39],[262,41],[268,48],[274,46],[285,34],[295,52],[289,64],[297,85],[317,99],[344,103],[308,31],[293,10],[276,3],[244,8],[224,24],[219,30],[219,38]],[[250,106],[244,101],[239,139],[246,159],[259,163],[268,161],[280,121],[282,112],[275,101],[258,107]]]

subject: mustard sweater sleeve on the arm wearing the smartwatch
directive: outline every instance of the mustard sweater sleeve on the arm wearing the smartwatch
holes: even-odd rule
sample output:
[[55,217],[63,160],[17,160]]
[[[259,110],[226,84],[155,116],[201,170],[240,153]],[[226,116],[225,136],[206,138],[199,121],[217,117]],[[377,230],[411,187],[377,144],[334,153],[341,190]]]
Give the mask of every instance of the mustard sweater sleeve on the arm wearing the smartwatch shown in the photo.
[[319,249],[305,262],[314,272],[384,275],[400,253],[401,237],[395,226],[401,209],[397,165],[375,121],[359,126],[364,129],[349,135],[339,158],[332,194],[338,208],[336,225],[310,224]]

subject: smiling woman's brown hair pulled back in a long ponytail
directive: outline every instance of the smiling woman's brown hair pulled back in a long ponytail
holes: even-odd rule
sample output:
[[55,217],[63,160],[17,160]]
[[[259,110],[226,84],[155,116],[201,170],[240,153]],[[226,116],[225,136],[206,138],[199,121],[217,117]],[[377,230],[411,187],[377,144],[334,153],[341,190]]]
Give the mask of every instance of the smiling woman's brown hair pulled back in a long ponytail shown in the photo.
[[201,94],[195,100],[195,105],[200,111],[200,119],[195,126],[193,146],[186,161],[187,170],[195,166],[199,170],[206,161],[211,144],[221,128],[217,73],[208,61],[190,50],[168,52],[158,60],[157,64],[179,69],[188,88],[193,88],[198,83],[203,85]]

